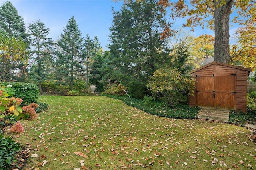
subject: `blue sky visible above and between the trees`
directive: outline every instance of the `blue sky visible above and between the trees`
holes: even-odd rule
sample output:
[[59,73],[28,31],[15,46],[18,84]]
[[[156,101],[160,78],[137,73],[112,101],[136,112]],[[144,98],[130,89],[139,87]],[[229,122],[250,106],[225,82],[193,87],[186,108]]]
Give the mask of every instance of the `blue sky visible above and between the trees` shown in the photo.
[[[66,27],[68,20],[74,16],[82,37],[88,33],[91,38],[97,36],[101,46],[106,50],[110,26],[112,24],[112,7],[119,10],[122,2],[112,0],[9,0],[22,16],[26,28],[28,23],[41,20],[50,29],[49,37],[56,40],[63,28]],[[2,5],[6,0],[0,0]],[[169,18],[169,16],[167,16]],[[177,19],[173,29],[181,27],[184,20]],[[190,28],[184,28],[190,31]],[[234,33],[230,27],[230,34]],[[191,35],[198,37],[202,34],[214,36],[214,32],[195,28]]]

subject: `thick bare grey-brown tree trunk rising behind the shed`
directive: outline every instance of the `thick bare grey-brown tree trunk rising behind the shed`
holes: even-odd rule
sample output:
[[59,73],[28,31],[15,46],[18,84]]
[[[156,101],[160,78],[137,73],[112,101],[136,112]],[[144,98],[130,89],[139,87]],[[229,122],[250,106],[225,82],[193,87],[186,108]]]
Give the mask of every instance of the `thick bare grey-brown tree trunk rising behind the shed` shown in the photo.
[[214,61],[228,64],[229,53],[229,17],[234,0],[226,0],[226,4],[220,5],[221,0],[214,2]]

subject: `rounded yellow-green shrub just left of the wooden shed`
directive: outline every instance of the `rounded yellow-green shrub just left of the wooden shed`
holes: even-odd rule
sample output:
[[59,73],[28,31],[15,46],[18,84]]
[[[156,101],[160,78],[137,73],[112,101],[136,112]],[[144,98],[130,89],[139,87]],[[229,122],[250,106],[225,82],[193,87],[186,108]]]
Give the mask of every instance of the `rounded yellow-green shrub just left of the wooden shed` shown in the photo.
[[189,75],[181,75],[172,69],[159,69],[151,76],[147,87],[152,92],[162,93],[167,106],[176,107],[188,100],[188,92],[193,92],[195,80]]

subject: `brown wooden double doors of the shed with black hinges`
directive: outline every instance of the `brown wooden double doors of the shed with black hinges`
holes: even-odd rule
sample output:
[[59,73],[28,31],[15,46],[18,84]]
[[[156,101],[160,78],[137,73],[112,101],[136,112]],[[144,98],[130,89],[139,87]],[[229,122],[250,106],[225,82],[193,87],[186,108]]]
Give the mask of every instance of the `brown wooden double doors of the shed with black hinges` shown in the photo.
[[218,109],[235,109],[236,74],[197,75],[196,105]]

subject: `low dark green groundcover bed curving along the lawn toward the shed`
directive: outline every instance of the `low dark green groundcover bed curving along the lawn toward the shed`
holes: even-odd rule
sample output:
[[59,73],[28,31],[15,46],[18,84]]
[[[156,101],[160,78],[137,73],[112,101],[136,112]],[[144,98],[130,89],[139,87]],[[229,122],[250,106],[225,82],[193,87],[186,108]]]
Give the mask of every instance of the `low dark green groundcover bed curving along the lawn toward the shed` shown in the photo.
[[128,98],[128,96],[103,95],[110,98],[116,98],[124,101],[129,106],[136,107],[151,115],[168,117],[174,119],[196,119],[198,110],[195,107],[189,107],[185,104],[179,104],[176,109],[168,107],[162,100],[151,101],[150,105],[145,105],[143,99]]

